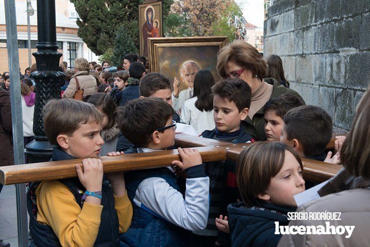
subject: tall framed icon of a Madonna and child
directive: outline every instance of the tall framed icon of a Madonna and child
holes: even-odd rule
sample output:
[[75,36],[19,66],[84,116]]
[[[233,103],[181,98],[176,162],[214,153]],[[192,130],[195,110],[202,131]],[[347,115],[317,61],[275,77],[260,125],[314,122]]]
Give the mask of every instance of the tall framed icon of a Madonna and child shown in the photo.
[[148,38],[162,36],[162,1],[144,1],[139,5],[140,56],[148,58]]

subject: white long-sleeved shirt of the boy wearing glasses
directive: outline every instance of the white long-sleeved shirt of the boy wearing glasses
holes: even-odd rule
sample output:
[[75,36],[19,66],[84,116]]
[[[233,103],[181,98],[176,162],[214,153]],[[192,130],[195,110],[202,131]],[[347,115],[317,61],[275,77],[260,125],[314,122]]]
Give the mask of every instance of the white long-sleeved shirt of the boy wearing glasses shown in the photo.
[[[159,150],[138,148],[137,151],[141,153]],[[172,168],[168,169],[173,172]],[[145,205],[172,224],[187,230],[204,229],[209,211],[209,177],[186,179],[185,199],[165,179],[146,178],[136,189],[134,203],[138,207]]]

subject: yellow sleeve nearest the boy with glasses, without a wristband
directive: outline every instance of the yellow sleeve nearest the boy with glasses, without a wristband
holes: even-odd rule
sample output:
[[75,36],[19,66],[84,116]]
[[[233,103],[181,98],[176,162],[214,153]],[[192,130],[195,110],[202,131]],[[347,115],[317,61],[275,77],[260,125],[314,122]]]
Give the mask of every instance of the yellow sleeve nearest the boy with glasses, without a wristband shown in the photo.
[[118,214],[118,220],[120,224],[120,234],[126,232],[130,225],[133,217],[133,206],[131,205],[130,199],[125,195],[117,197],[114,196],[114,208]]

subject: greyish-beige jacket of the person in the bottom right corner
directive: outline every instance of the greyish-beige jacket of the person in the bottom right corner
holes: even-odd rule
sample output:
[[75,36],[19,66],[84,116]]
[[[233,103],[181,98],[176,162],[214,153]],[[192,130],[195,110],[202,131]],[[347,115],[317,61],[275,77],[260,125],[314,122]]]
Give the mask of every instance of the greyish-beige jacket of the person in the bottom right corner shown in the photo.
[[[370,179],[353,177],[342,169],[319,190],[320,199],[303,204],[297,212],[341,212],[340,220],[292,220],[289,226],[355,226],[342,235],[283,235],[278,247],[370,246]],[[332,194],[331,194],[332,193]]]

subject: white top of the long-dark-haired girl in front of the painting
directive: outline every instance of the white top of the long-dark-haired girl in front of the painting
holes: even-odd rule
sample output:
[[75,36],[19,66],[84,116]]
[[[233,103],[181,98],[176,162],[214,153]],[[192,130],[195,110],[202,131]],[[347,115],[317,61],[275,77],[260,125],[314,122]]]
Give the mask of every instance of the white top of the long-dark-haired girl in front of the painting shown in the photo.
[[197,100],[198,97],[194,97],[185,101],[181,110],[181,120],[193,126],[198,135],[200,135],[205,130],[213,130],[215,128],[215,123],[213,119],[213,109],[210,111],[200,111],[195,106]]

